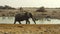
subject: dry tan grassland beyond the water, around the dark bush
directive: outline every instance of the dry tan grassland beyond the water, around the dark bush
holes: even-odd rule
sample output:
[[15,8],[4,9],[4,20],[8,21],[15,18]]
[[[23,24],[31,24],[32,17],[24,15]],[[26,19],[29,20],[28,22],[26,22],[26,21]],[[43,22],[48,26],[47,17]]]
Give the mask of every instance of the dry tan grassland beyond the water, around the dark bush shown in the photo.
[[[46,9],[47,12],[36,12],[37,8],[24,8],[25,11],[31,12],[34,17],[40,18],[40,17],[46,17],[46,16],[51,16],[52,18],[58,18],[60,19],[60,9],[54,9],[54,8],[48,8]],[[16,13],[19,13],[20,11],[18,9],[16,10],[3,10],[0,9],[0,16],[3,14],[5,16],[15,16]]]

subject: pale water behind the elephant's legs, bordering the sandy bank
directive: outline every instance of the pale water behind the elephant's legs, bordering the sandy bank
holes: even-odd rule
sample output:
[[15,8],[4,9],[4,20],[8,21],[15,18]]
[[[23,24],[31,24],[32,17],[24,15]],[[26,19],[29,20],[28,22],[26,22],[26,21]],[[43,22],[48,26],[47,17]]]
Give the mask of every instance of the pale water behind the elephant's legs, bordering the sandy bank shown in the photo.
[[[0,17],[0,24],[14,24],[14,17]],[[60,20],[59,19],[49,19],[50,21],[48,21],[47,19],[43,18],[40,19],[38,21],[36,21],[37,24],[60,24]],[[34,24],[34,22],[32,21],[32,19],[29,19],[30,24]],[[25,21],[21,21],[22,24],[26,24]],[[19,24],[18,22],[16,22],[16,24]]]

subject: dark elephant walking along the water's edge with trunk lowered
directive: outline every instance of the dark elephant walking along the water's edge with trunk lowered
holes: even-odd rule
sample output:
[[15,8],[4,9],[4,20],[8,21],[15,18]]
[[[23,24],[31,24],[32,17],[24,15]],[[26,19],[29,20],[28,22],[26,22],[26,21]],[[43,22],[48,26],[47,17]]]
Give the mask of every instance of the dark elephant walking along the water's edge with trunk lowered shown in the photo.
[[30,24],[29,18],[32,18],[33,22],[36,24],[32,13],[30,12],[25,12],[25,13],[18,13],[15,15],[15,21],[14,24],[16,24],[16,22],[19,22],[19,24],[21,24],[21,21],[26,21],[26,24]]

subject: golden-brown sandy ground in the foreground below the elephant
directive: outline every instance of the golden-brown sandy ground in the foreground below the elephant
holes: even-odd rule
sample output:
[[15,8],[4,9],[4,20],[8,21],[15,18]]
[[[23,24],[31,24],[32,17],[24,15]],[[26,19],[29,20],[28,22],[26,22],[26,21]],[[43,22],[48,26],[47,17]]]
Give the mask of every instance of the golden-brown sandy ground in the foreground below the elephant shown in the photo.
[[0,24],[0,34],[60,34],[59,24]]

